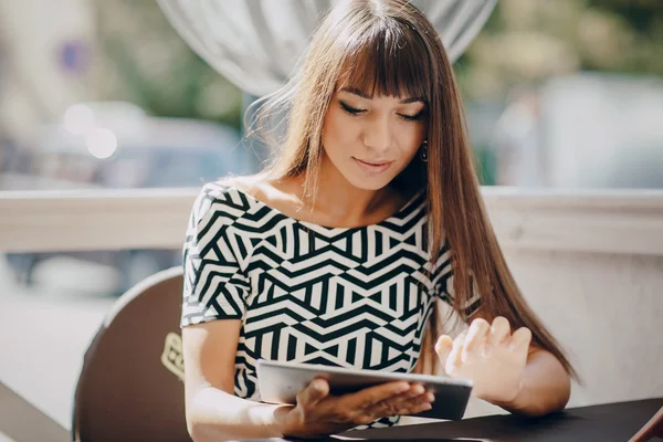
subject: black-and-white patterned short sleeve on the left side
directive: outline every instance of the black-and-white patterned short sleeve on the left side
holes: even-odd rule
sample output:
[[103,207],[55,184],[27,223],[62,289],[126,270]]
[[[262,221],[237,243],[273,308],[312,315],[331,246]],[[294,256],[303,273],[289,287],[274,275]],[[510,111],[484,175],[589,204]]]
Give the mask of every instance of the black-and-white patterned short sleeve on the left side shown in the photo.
[[193,203],[182,250],[182,327],[244,316],[250,283],[233,250],[242,213],[228,201],[222,188],[207,185]]

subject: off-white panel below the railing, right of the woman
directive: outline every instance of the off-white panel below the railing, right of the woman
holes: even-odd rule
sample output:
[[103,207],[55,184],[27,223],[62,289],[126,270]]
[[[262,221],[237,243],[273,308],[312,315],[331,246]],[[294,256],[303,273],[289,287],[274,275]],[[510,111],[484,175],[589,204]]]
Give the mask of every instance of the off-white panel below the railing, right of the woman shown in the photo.
[[[585,386],[569,406],[663,397],[663,255],[507,251]],[[501,412],[473,401],[467,415]]]

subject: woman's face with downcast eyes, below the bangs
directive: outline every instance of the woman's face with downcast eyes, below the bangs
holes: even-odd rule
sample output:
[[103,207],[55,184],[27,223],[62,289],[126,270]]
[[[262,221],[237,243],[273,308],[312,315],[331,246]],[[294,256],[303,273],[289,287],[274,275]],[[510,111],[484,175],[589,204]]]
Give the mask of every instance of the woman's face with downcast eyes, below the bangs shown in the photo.
[[427,125],[421,97],[370,97],[340,88],[332,96],[323,126],[325,166],[330,162],[359,189],[381,189],[418,154]]

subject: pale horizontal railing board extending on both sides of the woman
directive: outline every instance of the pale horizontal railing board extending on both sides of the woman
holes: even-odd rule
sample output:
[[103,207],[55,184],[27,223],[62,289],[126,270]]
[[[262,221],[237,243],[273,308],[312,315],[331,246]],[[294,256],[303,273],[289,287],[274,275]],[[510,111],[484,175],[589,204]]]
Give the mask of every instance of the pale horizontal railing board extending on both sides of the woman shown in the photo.
[[[198,189],[0,192],[0,251],[179,249]],[[484,188],[504,249],[663,255],[663,191]]]

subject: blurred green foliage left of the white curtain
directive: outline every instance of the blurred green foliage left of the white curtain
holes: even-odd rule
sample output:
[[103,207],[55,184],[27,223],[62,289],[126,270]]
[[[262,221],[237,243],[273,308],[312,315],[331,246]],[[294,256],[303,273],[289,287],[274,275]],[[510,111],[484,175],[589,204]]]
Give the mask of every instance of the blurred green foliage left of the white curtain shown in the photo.
[[181,40],[156,1],[96,0],[96,11],[101,99],[240,128],[241,91]]

